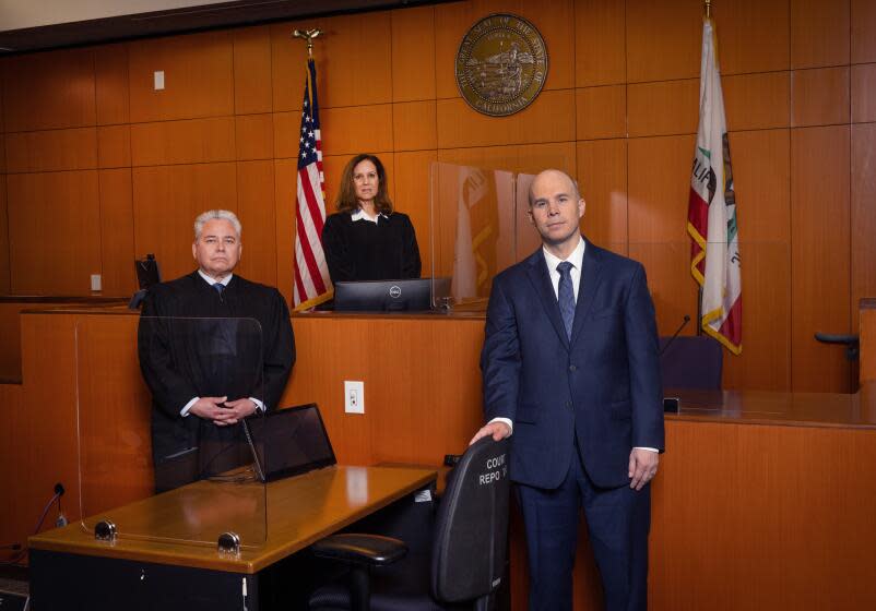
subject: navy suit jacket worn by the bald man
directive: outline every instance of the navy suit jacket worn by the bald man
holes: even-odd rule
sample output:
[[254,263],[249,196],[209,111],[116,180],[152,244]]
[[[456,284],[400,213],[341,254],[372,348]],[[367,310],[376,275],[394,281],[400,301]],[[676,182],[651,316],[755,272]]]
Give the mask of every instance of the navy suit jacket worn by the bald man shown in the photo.
[[576,434],[604,488],[629,483],[632,447],[664,448],[654,306],[632,260],[587,242],[571,340],[541,248],[496,276],[481,370],[486,419],[514,424],[517,482],[563,483]]

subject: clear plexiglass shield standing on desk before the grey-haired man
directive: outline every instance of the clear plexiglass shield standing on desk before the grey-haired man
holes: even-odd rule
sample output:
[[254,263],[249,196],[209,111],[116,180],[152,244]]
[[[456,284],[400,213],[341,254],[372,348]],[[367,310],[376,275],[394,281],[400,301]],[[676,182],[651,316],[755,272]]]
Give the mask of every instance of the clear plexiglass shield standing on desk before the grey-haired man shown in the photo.
[[[129,334],[130,327],[88,318],[75,330],[82,527],[111,525],[119,539],[205,546],[232,532],[242,548],[261,546],[267,489],[250,431],[263,412],[228,419],[235,406],[247,405],[229,403],[264,397],[261,326],[252,319],[143,316],[140,394],[96,405],[94,385],[105,385],[106,395],[127,386],[122,378],[140,376],[128,368],[91,369],[96,351]],[[196,397],[212,398],[212,407],[190,405]]]

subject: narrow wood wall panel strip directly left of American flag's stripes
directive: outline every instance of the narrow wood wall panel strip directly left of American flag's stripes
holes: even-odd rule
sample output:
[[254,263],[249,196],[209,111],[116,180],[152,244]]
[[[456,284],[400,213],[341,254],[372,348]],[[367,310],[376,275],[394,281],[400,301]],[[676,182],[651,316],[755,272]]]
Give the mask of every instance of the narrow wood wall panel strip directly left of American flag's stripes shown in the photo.
[[[295,159],[274,160],[274,208],[276,216],[276,288],[293,306],[295,256],[295,205],[298,166]],[[331,202],[325,202],[329,212]]]

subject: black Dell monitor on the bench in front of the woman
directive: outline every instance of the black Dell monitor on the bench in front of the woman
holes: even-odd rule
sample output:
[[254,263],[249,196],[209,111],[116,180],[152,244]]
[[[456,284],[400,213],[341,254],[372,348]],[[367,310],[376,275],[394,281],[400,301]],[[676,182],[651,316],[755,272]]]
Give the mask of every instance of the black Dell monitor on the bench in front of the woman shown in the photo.
[[[436,278],[436,289],[450,278]],[[334,309],[340,312],[424,312],[431,310],[431,278],[334,283]],[[446,291],[447,292],[447,291]]]

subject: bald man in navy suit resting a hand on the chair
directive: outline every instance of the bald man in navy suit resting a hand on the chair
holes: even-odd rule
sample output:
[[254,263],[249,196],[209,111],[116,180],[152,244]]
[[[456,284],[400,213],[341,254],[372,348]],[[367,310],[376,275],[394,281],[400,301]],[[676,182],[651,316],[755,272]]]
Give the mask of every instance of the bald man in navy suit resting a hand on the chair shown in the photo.
[[488,421],[511,436],[526,528],[530,611],[572,608],[583,507],[612,611],[648,606],[650,481],[663,451],[654,306],[641,264],[587,241],[566,173],[530,188],[542,248],[496,276],[481,355]]

